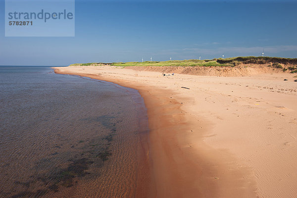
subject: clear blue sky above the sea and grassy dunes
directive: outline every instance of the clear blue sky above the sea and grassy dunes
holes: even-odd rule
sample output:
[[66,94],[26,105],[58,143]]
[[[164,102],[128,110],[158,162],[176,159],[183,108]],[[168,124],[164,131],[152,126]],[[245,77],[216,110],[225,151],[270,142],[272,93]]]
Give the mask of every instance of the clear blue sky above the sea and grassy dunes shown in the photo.
[[297,0],[75,0],[74,37],[5,37],[0,65],[297,58]]

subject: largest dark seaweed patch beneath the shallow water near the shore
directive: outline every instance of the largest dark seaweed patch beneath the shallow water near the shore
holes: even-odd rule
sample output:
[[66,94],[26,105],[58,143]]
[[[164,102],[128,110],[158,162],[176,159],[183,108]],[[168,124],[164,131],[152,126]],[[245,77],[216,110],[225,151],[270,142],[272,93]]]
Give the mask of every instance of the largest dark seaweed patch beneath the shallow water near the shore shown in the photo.
[[[78,143],[85,144],[86,147],[83,147],[83,153],[85,157],[81,158],[72,158],[68,161],[68,166],[66,168],[54,168],[45,175],[38,177],[37,179],[44,183],[44,188],[39,191],[32,191],[30,189],[29,183],[21,183],[17,182],[19,185],[23,185],[27,187],[27,191],[20,192],[17,195],[14,195],[13,198],[20,198],[20,197],[41,197],[47,194],[49,191],[58,192],[60,188],[69,188],[72,187],[75,182],[76,177],[83,177],[89,173],[86,172],[88,170],[88,166],[92,163],[92,159],[96,160],[97,167],[103,165],[103,162],[108,160],[109,157],[112,155],[111,150],[109,149],[110,143],[114,139],[115,135],[115,127],[114,123],[110,123],[109,119],[112,117],[101,117],[100,119],[97,118],[97,121],[100,120],[104,126],[110,127],[109,129],[111,132],[105,136],[99,136],[98,139],[89,142],[88,144],[85,141],[80,140]],[[112,126],[113,125],[113,126]],[[72,145],[73,147],[73,145]],[[56,147],[57,148],[57,147]],[[92,148],[90,151],[87,149]],[[50,154],[50,156],[59,155],[60,153],[54,152]],[[46,168],[47,164],[50,162],[49,158],[44,158],[37,163],[37,170]]]

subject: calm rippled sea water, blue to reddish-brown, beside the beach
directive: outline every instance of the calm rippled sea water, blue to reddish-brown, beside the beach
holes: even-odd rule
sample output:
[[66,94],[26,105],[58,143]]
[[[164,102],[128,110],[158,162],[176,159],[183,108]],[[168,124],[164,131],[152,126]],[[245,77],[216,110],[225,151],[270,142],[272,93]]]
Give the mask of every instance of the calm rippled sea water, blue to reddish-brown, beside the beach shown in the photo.
[[136,90],[0,67],[0,197],[133,197],[148,133]]

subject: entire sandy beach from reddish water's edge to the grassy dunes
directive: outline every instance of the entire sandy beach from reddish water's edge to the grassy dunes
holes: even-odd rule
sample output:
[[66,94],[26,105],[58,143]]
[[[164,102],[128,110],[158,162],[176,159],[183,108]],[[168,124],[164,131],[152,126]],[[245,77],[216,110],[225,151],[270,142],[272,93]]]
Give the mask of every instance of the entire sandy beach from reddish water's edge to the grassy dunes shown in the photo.
[[297,197],[294,74],[162,76],[113,66],[56,68],[139,90],[148,108],[152,180],[148,187],[139,181],[139,196]]

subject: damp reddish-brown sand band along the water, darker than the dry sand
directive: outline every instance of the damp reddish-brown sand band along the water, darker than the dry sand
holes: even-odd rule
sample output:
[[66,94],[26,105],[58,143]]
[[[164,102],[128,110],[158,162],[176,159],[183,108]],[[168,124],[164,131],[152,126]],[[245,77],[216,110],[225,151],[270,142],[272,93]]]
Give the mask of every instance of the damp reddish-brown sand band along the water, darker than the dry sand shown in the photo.
[[[174,91],[100,74],[54,69],[55,73],[90,77],[139,91],[148,110],[148,154],[152,159],[149,167],[151,183],[145,197],[257,196],[251,169],[233,164],[236,159],[229,152],[203,143],[205,131],[210,130],[211,123],[202,117],[197,121],[196,117],[185,112],[180,102],[184,98]],[[192,138],[195,139],[195,148],[189,144]]]

